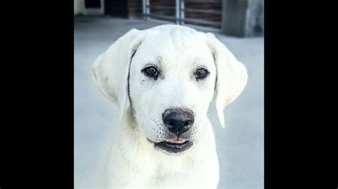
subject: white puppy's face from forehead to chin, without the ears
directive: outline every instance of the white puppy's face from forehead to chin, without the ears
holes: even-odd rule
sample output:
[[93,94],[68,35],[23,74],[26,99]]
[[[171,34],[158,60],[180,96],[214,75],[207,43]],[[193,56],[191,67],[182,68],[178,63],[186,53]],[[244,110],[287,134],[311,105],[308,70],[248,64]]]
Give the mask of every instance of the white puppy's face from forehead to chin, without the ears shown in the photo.
[[129,72],[130,103],[145,136],[170,153],[192,146],[206,125],[215,80],[203,33],[148,33]]

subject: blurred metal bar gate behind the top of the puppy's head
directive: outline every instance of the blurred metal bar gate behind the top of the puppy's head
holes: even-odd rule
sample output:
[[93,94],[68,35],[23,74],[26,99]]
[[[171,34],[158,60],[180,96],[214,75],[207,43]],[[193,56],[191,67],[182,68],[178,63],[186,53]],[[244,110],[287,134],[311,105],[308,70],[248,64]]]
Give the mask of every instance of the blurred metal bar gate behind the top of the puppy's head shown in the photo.
[[[190,23],[198,26],[210,26],[212,28],[220,28],[222,7],[221,0],[172,0],[172,1],[160,1],[160,0],[143,0],[143,18],[144,19],[158,19],[165,21],[173,21],[180,25]],[[162,4],[161,4],[162,3]],[[190,4],[204,4],[206,8],[194,8],[188,7]],[[218,10],[208,9],[208,4],[216,3]],[[164,4],[164,5],[163,5]],[[187,6],[188,4],[188,6]],[[188,8],[187,8],[188,7]],[[210,6],[212,7],[212,6]],[[209,8],[210,8],[209,7]],[[202,14],[198,18],[187,18],[189,15]],[[167,14],[167,15],[166,15]],[[187,16],[188,14],[188,16]],[[204,15],[204,17],[203,17]],[[210,21],[205,19],[206,17],[214,16],[216,19]]]

